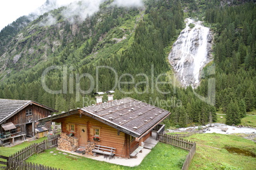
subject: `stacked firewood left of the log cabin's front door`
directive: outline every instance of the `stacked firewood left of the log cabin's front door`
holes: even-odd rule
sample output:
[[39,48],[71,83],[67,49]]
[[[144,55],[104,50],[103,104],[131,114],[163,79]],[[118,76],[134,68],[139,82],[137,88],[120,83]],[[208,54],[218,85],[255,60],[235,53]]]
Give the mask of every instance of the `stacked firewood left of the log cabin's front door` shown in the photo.
[[58,140],[58,148],[60,150],[67,150],[75,152],[78,148],[78,138],[74,136],[67,136],[66,133],[61,133]]

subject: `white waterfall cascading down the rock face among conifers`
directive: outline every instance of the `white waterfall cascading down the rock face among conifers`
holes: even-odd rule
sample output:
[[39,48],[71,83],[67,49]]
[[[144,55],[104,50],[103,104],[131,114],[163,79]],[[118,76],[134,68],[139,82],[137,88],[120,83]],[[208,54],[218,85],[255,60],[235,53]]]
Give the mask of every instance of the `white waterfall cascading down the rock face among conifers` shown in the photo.
[[[199,85],[201,69],[212,60],[210,56],[212,37],[210,29],[201,25],[201,22],[195,22],[190,18],[185,22],[186,27],[174,42],[169,54],[169,62],[183,86],[196,87]],[[192,29],[188,26],[190,23],[195,25]]]

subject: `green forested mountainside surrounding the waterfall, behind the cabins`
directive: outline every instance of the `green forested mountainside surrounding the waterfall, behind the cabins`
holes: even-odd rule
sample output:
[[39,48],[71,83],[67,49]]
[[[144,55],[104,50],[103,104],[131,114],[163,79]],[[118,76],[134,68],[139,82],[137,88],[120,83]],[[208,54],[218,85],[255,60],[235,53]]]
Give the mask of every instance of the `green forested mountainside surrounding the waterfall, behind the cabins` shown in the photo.
[[[114,90],[116,99],[130,96],[169,110],[168,126],[217,121],[217,110],[227,114],[226,124],[239,124],[255,110],[253,1],[148,0],[139,8],[110,4],[105,1],[82,22],[64,18],[62,7],[31,22],[23,16],[12,23],[17,26],[1,30],[0,98],[38,101],[62,112],[91,105],[96,91]],[[52,25],[45,22],[49,14],[57,18]],[[213,32],[213,62],[202,72],[215,65],[215,74],[202,74],[196,89],[179,86],[167,60],[189,16]],[[47,68],[52,69],[45,75]],[[212,78],[215,105],[195,95],[206,97]],[[156,80],[171,83],[156,85]]]

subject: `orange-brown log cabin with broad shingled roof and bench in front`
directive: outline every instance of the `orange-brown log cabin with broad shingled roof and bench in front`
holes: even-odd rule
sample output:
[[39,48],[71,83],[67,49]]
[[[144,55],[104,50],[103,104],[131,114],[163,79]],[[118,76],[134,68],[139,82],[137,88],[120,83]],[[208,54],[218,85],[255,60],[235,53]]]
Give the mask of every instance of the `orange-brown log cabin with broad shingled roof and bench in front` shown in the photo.
[[90,141],[109,150],[115,148],[118,157],[130,158],[169,114],[142,101],[123,98],[46,117],[39,122],[60,122],[62,133],[73,133],[78,138],[78,147],[86,147]]

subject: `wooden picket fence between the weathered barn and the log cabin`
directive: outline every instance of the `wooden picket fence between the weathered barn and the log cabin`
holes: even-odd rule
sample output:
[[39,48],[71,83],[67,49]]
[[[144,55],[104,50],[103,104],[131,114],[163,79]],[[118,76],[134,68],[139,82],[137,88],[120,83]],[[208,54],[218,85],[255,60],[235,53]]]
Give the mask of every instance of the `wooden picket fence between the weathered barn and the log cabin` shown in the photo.
[[[34,165],[34,164],[31,165],[29,163],[24,162],[24,160],[28,159],[33,154],[43,152],[48,148],[57,147],[59,137],[60,137],[60,134],[49,136],[48,139],[42,141],[41,143],[34,143],[29,147],[25,147],[24,149],[11,155],[10,157],[8,157],[8,163],[7,163],[6,169],[18,169],[18,168],[22,169],[24,168],[24,166],[27,166],[28,168],[31,167],[31,169],[36,170],[39,167],[40,168],[43,167],[42,165]],[[51,167],[47,167],[47,168],[51,168]]]

